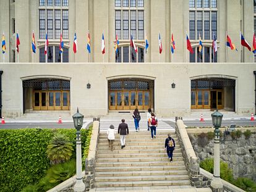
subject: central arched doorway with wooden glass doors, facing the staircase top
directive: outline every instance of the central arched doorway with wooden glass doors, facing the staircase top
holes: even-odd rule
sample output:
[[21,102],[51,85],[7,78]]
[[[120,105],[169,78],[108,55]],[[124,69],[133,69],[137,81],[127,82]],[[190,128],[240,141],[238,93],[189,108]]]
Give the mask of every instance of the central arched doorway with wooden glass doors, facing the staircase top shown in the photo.
[[153,109],[154,81],[122,78],[108,81],[109,110]]

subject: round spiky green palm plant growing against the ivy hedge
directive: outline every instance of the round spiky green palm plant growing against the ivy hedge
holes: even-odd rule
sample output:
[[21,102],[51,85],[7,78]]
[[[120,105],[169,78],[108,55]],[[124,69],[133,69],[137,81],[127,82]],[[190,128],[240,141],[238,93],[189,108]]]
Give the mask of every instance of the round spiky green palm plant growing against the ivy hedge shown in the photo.
[[65,135],[57,133],[47,146],[46,153],[51,164],[59,164],[69,161],[72,156],[73,143],[70,143]]

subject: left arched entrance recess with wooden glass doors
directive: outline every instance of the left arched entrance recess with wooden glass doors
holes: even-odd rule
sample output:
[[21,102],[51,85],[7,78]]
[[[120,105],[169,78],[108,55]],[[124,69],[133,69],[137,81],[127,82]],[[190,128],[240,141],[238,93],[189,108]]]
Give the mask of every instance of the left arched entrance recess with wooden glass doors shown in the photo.
[[23,80],[23,109],[34,111],[70,110],[70,81],[54,78]]

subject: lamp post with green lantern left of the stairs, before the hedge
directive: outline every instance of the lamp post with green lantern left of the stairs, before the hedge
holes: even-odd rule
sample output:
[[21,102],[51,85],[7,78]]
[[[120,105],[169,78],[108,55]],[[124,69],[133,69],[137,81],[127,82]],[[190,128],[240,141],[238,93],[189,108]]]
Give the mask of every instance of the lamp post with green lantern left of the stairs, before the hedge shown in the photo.
[[83,115],[79,113],[77,107],[77,113],[73,116],[75,128],[77,130],[77,180],[74,185],[74,191],[85,191],[85,183],[83,183],[82,177],[82,150],[81,150],[81,128],[83,126]]

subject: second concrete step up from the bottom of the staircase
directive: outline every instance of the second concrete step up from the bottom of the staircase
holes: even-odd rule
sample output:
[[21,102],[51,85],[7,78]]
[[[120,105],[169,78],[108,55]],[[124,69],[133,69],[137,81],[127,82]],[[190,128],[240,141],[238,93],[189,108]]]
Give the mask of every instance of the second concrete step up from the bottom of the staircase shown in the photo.
[[95,177],[95,182],[139,182],[139,181],[163,181],[163,180],[188,180],[188,175],[143,175],[143,176],[118,176]]

